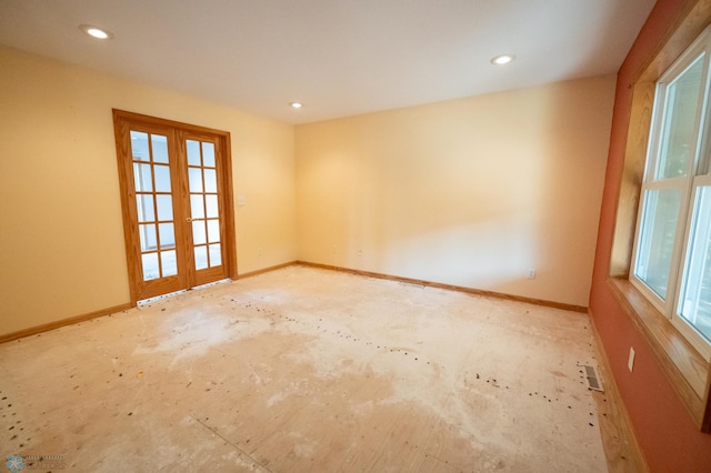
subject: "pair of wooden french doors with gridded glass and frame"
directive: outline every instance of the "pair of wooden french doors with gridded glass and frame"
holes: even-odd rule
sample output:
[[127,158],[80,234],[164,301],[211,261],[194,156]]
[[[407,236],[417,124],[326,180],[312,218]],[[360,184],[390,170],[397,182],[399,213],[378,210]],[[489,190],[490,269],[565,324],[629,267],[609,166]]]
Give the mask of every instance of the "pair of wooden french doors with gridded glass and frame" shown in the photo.
[[234,278],[228,132],[113,111],[131,302]]

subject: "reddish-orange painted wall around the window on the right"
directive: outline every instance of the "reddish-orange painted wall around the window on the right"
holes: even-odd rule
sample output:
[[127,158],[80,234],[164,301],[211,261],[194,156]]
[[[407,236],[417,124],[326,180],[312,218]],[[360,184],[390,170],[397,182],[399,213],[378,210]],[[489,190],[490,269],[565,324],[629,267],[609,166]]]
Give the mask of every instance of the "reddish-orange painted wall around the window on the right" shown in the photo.
[[[654,355],[633,329],[605,282],[610,269],[617,202],[624,164],[633,74],[657,53],[660,38],[673,28],[690,1],[659,0],[618,74],[608,170],[600,217],[590,312],[638,441],[653,472],[711,472],[711,435],[698,431],[660,370]],[[627,368],[634,348],[634,371]]]

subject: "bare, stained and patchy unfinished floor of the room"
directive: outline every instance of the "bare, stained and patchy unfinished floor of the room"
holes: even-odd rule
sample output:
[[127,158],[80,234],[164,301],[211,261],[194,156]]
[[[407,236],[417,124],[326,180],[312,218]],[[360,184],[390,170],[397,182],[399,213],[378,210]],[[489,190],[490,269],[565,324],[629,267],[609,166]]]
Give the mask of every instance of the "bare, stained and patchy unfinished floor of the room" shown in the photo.
[[81,472],[603,472],[579,364],[597,364],[585,314],[289,266],[0,345],[0,455]]

